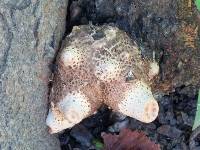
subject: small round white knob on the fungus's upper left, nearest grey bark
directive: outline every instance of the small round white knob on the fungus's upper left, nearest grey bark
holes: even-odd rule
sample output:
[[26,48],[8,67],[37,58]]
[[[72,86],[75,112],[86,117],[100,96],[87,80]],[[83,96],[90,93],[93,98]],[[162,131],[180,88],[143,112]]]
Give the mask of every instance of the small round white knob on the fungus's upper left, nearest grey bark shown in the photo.
[[62,52],[61,60],[65,66],[79,65],[81,61],[81,54],[77,48],[68,46]]

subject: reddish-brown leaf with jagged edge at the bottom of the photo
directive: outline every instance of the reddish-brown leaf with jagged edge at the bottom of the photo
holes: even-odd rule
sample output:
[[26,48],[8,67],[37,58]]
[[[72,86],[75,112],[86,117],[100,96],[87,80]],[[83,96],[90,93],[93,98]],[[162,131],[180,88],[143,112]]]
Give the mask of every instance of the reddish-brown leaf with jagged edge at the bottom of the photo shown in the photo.
[[119,135],[102,134],[104,150],[160,150],[160,146],[150,141],[143,133],[123,129]]

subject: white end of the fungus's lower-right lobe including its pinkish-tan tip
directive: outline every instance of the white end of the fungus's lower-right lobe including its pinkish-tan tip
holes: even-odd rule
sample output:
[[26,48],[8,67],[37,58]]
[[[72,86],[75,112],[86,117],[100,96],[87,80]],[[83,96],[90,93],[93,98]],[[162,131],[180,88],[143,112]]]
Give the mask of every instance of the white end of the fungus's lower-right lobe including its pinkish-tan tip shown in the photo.
[[123,97],[118,105],[120,112],[145,123],[156,119],[158,103],[145,83],[138,81],[128,87]]

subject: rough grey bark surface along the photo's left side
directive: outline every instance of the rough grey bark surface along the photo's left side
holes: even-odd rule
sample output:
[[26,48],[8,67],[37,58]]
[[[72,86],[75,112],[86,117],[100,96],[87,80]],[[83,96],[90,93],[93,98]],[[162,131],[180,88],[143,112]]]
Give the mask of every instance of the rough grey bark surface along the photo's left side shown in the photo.
[[0,150],[58,150],[47,132],[48,64],[68,0],[0,0]]

